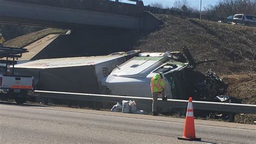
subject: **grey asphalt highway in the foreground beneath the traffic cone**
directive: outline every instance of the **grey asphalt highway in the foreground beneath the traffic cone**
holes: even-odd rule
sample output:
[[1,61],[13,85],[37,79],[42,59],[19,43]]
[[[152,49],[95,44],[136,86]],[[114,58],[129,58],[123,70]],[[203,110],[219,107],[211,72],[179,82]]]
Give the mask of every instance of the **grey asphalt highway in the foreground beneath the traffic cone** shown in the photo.
[[[0,143],[190,143],[184,119],[0,102]],[[205,143],[255,143],[256,126],[196,120]],[[199,142],[192,142],[199,143]]]

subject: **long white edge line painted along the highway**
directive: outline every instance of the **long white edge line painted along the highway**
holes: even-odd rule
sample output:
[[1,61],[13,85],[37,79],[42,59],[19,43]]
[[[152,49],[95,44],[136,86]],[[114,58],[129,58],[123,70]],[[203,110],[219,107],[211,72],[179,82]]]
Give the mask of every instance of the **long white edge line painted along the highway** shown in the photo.
[[[0,106],[1,106],[1,105],[0,105]],[[109,117],[109,118],[131,119],[131,120],[144,120],[144,121],[165,122],[165,123],[169,123],[169,124],[181,124],[181,125],[184,125],[183,122],[148,120],[148,119],[139,119],[139,118],[126,118],[126,117],[122,117],[122,116],[111,116],[111,115],[91,114],[91,113],[80,113],[80,112],[66,112],[66,111],[58,111],[58,110],[53,110],[53,109],[41,109],[41,108],[23,107],[23,106],[9,106],[9,105],[5,105],[5,106],[7,106],[7,107],[22,107],[22,108],[24,108],[24,109],[40,109],[40,110],[43,110],[43,111],[53,111],[53,112],[63,112],[63,113],[75,113],[75,114],[86,114],[86,115],[97,115],[97,116],[105,116],[105,117]],[[39,106],[41,106],[41,105],[39,105]],[[195,124],[195,126],[212,127],[212,128],[223,128],[223,129],[232,129],[232,130],[248,131],[248,132],[256,132],[256,130],[240,129],[240,128],[230,128],[230,127],[207,126],[207,125],[199,125],[199,124]]]

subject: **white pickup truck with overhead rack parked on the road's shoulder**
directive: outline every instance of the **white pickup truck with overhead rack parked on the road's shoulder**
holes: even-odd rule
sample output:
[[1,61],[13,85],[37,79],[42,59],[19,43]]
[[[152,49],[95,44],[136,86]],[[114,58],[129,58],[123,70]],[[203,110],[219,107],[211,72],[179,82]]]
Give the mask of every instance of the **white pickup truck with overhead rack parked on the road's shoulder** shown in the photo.
[[[20,58],[21,53],[28,52],[26,49],[12,47],[0,47],[0,94],[1,97],[15,99],[17,104],[26,102],[28,93],[34,90],[35,80],[32,76],[19,76],[14,73],[14,65],[17,64],[15,58]],[[20,54],[20,55],[19,55]],[[8,60],[8,58],[12,60]],[[12,65],[12,71],[10,70]]]

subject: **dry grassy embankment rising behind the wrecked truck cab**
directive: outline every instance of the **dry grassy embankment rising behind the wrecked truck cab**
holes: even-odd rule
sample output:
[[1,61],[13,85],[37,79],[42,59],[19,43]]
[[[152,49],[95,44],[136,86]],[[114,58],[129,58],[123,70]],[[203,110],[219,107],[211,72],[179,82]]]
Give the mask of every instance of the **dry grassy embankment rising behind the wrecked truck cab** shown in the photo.
[[159,17],[165,24],[139,40],[134,49],[165,52],[182,51],[187,46],[196,61],[218,60],[218,64],[208,63],[199,70],[212,68],[218,74],[255,72],[256,28],[170,15]]

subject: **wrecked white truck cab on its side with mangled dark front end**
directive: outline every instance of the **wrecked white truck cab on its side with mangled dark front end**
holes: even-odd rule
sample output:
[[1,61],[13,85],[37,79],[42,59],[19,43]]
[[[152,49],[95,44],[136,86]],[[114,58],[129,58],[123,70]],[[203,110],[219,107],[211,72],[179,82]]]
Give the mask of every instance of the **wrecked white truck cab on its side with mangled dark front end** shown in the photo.
[[157,73],[164,73],[165,95],[170,99],[215,101],[215,97],[226,92],[227,85],[211,70],[203,74],[196,66],[215,60],[196,63],[190,51],[140,53],[115,68],[102,80],[106,94],[151,97],[150,81]]

